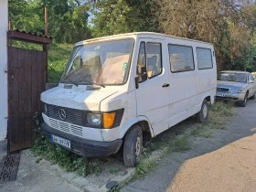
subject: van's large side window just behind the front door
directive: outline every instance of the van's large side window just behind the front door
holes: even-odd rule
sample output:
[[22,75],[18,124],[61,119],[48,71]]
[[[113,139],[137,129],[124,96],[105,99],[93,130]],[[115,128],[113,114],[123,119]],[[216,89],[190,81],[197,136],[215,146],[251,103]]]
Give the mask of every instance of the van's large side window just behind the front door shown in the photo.
[[188,46],[168,45],[172,72],[194,70],[193,49]]

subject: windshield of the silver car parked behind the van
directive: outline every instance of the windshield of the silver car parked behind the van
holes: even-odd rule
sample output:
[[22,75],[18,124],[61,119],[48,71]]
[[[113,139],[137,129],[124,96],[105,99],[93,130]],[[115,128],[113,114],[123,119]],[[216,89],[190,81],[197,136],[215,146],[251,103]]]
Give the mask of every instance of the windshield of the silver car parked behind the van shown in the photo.
[[218,80],[234,81],[234,82],[247,82],[246,73],[232,73],[232,72],[220,72]]

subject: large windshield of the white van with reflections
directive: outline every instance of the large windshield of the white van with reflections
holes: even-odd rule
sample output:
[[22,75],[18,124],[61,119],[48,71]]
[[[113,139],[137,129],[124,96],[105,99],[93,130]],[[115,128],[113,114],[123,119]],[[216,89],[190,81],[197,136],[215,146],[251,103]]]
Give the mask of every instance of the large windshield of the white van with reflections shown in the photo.
[[128,78],[133,39],[105,41],[73,48],[60,82],[120,85]]

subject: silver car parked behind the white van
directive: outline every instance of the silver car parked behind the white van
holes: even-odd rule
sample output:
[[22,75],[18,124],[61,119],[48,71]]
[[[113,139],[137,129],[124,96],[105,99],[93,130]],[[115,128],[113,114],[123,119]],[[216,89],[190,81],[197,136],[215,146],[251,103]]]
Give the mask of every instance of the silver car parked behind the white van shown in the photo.
[[250,72],[224,70],[218,75],[217,100],[237,101],[245,107],[248,98],[255,98],[256,81]]

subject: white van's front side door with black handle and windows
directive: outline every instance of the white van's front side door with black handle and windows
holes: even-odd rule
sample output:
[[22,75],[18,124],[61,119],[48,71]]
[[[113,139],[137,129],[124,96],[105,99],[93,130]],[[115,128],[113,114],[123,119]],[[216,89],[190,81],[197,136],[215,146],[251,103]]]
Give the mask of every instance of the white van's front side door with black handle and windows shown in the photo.
[[137,115],[149,119],[155,135],[168,128],[169,71],[164,45],[162,39],[140,38],[137,56]]

